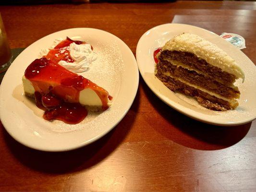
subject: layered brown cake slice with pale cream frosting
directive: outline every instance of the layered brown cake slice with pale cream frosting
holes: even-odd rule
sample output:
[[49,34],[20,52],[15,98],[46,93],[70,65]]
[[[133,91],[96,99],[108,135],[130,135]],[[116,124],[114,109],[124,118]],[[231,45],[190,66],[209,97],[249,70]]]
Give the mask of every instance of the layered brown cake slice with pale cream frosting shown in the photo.
[[216,45],[183,33],[166,42],[157,59],[155,75],[172,91],[193,96],[211,110],[237,108],[240,91],[234,82],[244,82],[244,72]]

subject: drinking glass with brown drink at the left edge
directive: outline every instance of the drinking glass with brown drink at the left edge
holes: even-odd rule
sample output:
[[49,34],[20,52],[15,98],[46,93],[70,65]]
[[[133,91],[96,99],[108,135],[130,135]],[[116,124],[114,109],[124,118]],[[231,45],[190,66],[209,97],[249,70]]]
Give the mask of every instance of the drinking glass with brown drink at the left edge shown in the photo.
[[2,17],[0,14],[0,72],[4,72],[11,64],[12,52],[7,40]]

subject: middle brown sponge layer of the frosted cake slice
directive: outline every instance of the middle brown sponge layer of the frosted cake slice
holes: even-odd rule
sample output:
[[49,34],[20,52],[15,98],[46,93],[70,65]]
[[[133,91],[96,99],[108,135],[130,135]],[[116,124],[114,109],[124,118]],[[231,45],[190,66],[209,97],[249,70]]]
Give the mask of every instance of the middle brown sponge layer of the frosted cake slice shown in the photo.
[[159,61],[156,66],[157,70],[165,74],[166,76],[173,76],[176,78],[181,78],[186,82],[195,84],[205,89],[215,92],[220,96],[227,98],[239,98],[240,92],[236,86],[228,87],[224,84],[221,84],[209,76],[205,76],[202,73],[197,73],[193,70],[185,69],[181,66],[172,65],[172,62],[169,61]]

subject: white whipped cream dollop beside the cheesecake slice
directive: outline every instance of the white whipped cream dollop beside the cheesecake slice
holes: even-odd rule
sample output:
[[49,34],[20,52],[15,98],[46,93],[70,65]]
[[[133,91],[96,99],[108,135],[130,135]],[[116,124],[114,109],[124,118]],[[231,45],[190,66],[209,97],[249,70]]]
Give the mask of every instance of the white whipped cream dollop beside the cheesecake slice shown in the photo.
[[69,46],[70,56],[74,62],[59,61],[59,64],[72,72],[85,72],[89,65],[97,60],[97,54],[91,49],[91,45],[71,43]]

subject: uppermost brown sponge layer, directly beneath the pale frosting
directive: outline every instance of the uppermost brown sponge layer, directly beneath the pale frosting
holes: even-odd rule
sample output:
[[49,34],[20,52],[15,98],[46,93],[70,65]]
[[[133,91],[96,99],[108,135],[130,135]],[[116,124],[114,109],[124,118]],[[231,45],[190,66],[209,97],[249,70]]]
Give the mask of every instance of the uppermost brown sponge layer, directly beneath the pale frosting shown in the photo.
[[163,60],[177,60],[182,62],[184,66],[190,69],[195,69],[198,72],[207,74],[211,78],[216,79],[222,84],[231,85],[235,82],[236,77],[228,72],[223,72],[220,68],[212,66],[206,60],[196,57],[196,55],[182,51],[163,50],[158,56],[158,59]]

